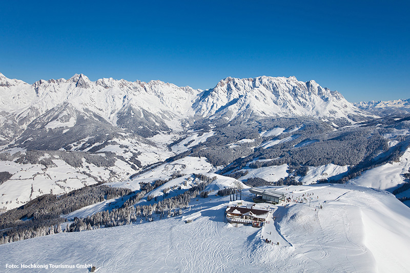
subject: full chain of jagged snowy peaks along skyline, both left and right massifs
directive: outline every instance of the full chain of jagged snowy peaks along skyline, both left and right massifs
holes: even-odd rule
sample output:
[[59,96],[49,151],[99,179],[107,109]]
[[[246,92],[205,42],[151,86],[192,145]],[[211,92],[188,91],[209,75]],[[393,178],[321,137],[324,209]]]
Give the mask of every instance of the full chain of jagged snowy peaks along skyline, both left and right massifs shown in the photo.
[[215,88],[202,91],[159,80],[148,83],[112,78],[90,81],[83,74],[75,74],[68,80],[39,80],[29,85],[0,74],[0,96],[1,125],[10,127],[4,134],[9,140],[36,118],[61,105],[80,113],[92,112],[100,117],[97,119],[102,118],[114,127],[134,131],[148,129],[142,133],[145,136],[155,134],[156,130],[182,130],[193,119],[204,118],[311,116],[348,123],[370,116],[347,102],[340,93],[322,88],[313,80],[301,82],[295,77],[228,77]]

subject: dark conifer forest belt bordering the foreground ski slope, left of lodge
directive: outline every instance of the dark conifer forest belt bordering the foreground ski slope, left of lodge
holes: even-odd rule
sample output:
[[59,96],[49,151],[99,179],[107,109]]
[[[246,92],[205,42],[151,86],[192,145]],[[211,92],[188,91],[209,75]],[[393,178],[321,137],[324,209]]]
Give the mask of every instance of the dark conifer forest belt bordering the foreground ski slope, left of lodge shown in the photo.
[[[174,176],[177,177],[180,174]],[[136,205],[147,193],[169,180],[155,180],[151,183],[140,183],[141,190],[132,192],[129,188],[113,188],[106,185],[91,185],[75,190],[59,197],[51,194],[35,198],[27,204],[11,209],[0,215],[0,244],[25,240],[61,232],[77,232],[93,228],[119,226],[133,223],[137,217],[142,220],[152,220],[152,214],[162,217],[172,217],[189,206],[191,198],[198,196],[216,177],[194,174],[200,183],[189,188],[183,194],[163,199],[149,205]],[[171,178],[173,179],[173,178]],[[208,193],[208,192],[207,192]],[[61,223],[67,215],[77,209],[102,202],[104,200],[126,197],[129,198],[119,208],[111,211],[98,212],[86,218],[74,218],[74,222],[61,228]]]

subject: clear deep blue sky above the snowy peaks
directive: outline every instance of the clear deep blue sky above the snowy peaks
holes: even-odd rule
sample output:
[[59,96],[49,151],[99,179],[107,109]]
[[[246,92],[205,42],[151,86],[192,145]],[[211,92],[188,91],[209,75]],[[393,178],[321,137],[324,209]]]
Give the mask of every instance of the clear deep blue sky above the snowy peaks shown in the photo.
[[410,98],[410,1],[3,1],[0,72],[209,89],[296,76],[351,102]]

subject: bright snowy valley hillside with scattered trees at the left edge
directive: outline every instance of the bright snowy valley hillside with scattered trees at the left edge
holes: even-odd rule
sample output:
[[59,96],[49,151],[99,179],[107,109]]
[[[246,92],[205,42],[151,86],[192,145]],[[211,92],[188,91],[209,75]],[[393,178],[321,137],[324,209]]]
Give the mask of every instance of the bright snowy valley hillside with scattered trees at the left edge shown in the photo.
[[0,172],[12,175],[0,184],[0,209],[22,206],[44,194],[60,195],[86,185],[124,180],[135,172],[119,159],[107,166],[94,162],[95,165],[84,158],[79,159],[81,164],[70,165],[52,153],[44,154],[43,159],[49,160],[50,165],[0,161]]

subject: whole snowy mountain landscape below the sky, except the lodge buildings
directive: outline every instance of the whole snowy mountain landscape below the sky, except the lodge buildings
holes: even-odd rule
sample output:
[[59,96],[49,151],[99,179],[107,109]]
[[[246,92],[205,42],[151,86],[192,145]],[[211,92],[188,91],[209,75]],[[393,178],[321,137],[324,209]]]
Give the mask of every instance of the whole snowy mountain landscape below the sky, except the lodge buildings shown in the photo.
[[[203,91],[1,73],[0,99],[3,268],[408,268],[408,101],[352,104],[295,77],[228,77]],[[263,204],[261,229],[225,220],[232,193],[252,206],[249,187],[263,186],[287,200]],[[73,245],[80,255],[67,258]]]

